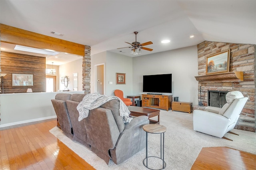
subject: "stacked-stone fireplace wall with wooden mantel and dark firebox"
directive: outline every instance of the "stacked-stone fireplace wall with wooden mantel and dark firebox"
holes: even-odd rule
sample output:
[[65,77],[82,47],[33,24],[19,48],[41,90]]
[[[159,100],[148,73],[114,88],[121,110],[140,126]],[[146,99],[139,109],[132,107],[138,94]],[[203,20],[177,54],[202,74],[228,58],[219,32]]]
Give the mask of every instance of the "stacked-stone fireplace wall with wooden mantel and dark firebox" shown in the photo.
[[[255,47],[254,44],[236,44],[223,42],[202,42],[198,46],[198,89],[202,88],[201,97],[203,106],[209,106],[216,96],[210,92],[217,92],[221,97],[213,103],[214,107],[224,105],[224,96],[228,91],[240,91],[248,101],[240,113],[236,124],[237,129],[255,132]],[[230,49],[229,72],[206,75],[206,58],[216,53]],[[209,99],[210,97],[210,99]],[[200,101],[200,93],[198,93]],[[226,101],[225,101],[226,102]]]

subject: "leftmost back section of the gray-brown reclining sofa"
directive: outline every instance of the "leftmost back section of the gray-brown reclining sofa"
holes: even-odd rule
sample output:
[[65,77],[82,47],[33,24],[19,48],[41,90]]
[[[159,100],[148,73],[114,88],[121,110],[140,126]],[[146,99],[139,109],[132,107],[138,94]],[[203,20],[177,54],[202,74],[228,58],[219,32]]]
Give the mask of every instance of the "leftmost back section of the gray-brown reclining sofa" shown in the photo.
[[71,94],[59,93],[56,94],[55,99],[52,99],[51,101],[62,132],[73,139],[73,128],[66,104],[66,100],[70,100],[70,97]]

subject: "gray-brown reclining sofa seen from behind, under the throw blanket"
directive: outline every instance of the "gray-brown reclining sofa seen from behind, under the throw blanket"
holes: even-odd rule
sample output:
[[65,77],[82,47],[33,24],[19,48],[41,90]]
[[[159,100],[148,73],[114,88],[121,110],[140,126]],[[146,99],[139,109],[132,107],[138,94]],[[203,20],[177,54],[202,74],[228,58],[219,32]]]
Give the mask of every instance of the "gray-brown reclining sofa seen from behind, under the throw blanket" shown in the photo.
[[[66,124],[68,121],[59,123],[61,128],[66,129],[65,126],[67,126],[67,129],[69,129],[71,127],[73,136],[67,135],[64,131],[63,133],[72,138],[72,140],[90,148],[107,164],[110,159],[115,164],[120,164],[145,148],[146,132],[142,127],[149,124],[147,116],[135,117],[130,123],[124,123],[119,115],[120,102],[114,99],[96,109],[90,110],[89,116],[79,122],[79,113],[76,107],[85,94],[73,94],[70,99],[64,100],[62,104],[67,106],[66,113],[64,109],[60,110],[61,107],[57,107],[56,102],[54,102],[61,99],[62,95],[66,94],[57,94],[56,99],[52,99],[52,104],[58,120],[61,117],[61,112],[62,114],[68,113],[71,125],[69,123]],[[68,119],[68,117],[65,118]]]

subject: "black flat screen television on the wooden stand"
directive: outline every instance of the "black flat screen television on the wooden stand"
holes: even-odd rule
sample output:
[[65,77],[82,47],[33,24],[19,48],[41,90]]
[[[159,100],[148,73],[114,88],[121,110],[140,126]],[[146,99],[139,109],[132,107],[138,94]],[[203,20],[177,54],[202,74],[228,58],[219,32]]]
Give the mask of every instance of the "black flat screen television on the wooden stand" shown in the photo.
[[143,92],[172,93],[172,74],[143,75]]

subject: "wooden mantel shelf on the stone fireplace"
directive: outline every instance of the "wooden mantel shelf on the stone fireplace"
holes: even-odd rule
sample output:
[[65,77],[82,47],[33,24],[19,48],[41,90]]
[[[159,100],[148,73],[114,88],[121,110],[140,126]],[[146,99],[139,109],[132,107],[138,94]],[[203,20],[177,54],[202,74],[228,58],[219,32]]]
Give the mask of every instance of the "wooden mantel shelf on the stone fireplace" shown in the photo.
[[199,83],[239,82],[244,81],[244,72],[234,71],[209,75],[199,75],[195,76],[195,78]]

